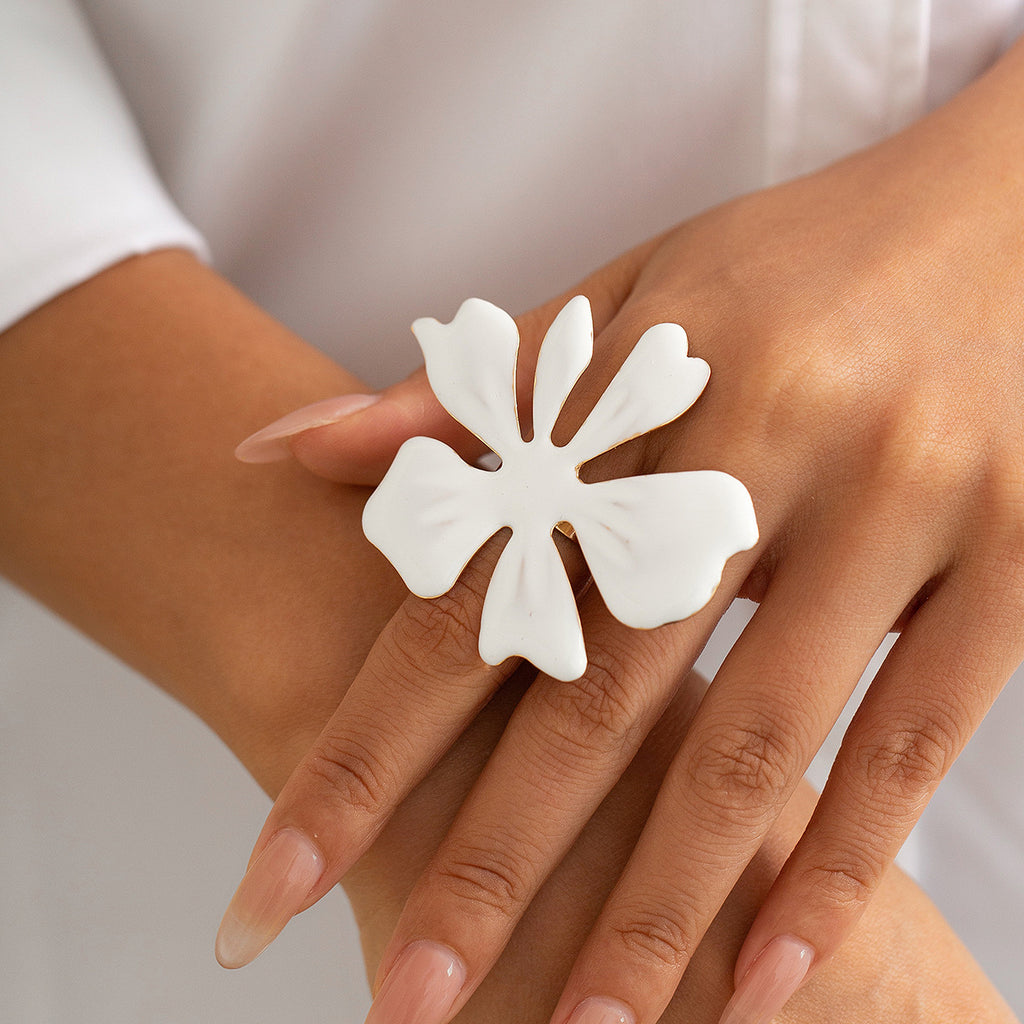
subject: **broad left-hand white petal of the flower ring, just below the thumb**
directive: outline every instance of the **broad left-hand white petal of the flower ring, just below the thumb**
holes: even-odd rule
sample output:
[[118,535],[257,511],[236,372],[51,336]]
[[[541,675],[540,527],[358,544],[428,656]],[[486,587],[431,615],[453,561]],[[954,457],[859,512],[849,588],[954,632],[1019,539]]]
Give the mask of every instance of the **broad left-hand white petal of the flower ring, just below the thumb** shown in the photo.
[[370,496],[362,531],[414,594],[438,597],[501,528],[494,478],[441,441],[413,437]]

